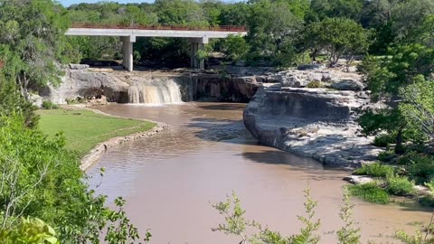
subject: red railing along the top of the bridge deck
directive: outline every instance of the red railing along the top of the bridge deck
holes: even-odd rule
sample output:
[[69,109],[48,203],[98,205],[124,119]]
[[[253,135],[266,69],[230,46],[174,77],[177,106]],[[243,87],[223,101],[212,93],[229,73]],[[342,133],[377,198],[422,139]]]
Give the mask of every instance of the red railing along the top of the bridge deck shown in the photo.
[[246,26],[218,25],[218,26],[185,26],[165,24],[104,24],[104,23],[72,23],[71,28],[89,29],[134,29],[134,30],[174,30],[174,31],[214,31],[214,32],[247,32]]

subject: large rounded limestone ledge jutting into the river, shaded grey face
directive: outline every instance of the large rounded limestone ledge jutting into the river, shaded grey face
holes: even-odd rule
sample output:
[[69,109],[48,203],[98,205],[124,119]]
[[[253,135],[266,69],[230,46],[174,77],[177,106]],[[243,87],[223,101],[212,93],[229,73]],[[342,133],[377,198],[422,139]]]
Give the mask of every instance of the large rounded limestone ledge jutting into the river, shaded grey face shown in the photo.
[[372,138],[357,136],[354,111],[367,104],[362,91],[270,84],[258,90],[243,117],[251,135],[265,145],[354,168],[375,160],[382,151],[370,145]]

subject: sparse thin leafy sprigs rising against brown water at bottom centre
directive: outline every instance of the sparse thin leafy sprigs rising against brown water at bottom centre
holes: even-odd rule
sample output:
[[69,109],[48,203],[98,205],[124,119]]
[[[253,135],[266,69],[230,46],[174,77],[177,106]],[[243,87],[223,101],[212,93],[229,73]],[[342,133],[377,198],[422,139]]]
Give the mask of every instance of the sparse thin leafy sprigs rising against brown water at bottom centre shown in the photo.
[[[225,223],[219,224],[212,231],[222,231],[227,235],[234,235],[241,238],[243,244],[246,243],[263,243],[263,244],[314,244],[319,243],[321,236],[317,231],[321,221],[316,219],[317,202],[311,198],[311,190],[308,186],[305,192],[305,215],[298,216],[298,220],[303,223],[303,227],[295,235],[283,236],[279,232],[269,230],[269,227],[263,227],[257,221],[247,221],[244,218],[245,211],[241,208],[241,201],[235,193],[232,192],[231,198],[228,197],[226,202],[218,202],[212,205],[219,211],[225,219]],[[356,227],[353,219],[354,204],[349,201],[348,192],[344,193],[344,203],[341,205],[339,213],[340,218],[344,221],[344,226],[336,231],[337,239],[340,244],[358,244],[360,243],[360,229]],[[256,230],[256,233],[249,236],[247,228]]]

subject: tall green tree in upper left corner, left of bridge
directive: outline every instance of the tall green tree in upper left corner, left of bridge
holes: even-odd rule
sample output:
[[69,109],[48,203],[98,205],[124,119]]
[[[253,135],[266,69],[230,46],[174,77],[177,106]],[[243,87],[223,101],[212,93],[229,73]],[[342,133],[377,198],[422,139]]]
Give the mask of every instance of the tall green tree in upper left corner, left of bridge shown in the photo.
[[[57,63],[69,61],[70,46],[64,33],[69,23],[66,10],[51,0],[0,0],[0,50],[9,50],[16,58],[1,56],[14,66],[14,77],[27,97],[29,87],[43,87],[59,81]],[[32,21],[28,21],[32,20]],[[3,52],[5,54],[6,52]]]

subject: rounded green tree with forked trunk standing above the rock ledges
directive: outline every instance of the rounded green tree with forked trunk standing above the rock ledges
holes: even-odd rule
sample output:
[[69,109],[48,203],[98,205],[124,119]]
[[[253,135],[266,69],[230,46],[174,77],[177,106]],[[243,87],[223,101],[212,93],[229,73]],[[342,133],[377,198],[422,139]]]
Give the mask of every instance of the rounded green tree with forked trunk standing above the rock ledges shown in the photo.
[[[362,25],[346,18],[326,18],[307,27],[306,45],[312,49],[325,49],[330,65],[346,55],[348,70],[355,54],[364,54],[369,47],[369,32]],[[312,41],[309,41],[312,40]]]

